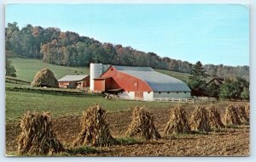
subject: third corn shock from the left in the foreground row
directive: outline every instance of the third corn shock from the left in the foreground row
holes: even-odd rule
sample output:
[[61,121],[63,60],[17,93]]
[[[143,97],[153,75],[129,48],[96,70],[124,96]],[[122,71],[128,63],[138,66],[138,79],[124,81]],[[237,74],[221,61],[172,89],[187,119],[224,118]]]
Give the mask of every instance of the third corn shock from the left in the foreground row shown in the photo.
[[132,120],[126,135],[130,137],[143,137],[146,140],[160,139],[160,133],[154,127],[153,116],[144,108],[133,109]]

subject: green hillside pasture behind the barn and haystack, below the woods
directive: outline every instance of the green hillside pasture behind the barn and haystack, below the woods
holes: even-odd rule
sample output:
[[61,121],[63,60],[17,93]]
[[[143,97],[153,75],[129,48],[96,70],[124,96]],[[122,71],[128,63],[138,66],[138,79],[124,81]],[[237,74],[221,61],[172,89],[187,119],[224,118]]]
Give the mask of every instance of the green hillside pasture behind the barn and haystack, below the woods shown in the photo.
[[[57,79],[60,79],[64,75],[76,75],[76,74],[90,74],[88,67],[77,68],[77,67],[66,67],[54,64],[44,63],[42,60],[38,59],[9,59],[15,66],[17,71],[17,77],[24,81],[32,81],[34,75],[43,68],[48,68],[52,70]],[[182,81],[189,80],[189,74],[179,73],[170,70],[156,70],[165,75],[171,75]]]

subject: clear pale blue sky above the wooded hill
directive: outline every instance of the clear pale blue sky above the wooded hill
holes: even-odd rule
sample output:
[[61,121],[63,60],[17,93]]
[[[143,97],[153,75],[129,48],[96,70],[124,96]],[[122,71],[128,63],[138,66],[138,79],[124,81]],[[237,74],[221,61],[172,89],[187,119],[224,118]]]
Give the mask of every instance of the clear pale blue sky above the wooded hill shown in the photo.
[[5,26],[58,27],[195,64],[249,65],[249,8],[240,4],[7,4]]

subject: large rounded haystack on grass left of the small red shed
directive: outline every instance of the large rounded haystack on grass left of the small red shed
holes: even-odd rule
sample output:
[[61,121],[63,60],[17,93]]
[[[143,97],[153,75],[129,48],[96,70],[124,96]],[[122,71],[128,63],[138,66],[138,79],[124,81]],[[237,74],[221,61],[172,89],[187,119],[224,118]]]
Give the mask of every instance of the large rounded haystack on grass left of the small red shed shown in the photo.
[[39,70],[31,83],[32,87],[59,87],[59,83],[51,70]]

